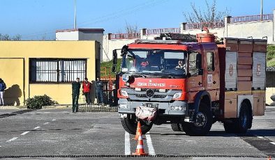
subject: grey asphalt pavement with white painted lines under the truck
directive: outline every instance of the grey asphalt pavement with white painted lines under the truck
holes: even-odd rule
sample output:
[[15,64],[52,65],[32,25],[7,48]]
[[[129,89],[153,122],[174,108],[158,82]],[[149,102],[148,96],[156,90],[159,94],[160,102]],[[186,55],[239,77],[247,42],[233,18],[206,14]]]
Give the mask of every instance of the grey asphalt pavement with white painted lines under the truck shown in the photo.
[[216,122],[208,136],[187,136],[170,125],[154,125],[143,136],[149,157],[131,157],[137,141],[118,113],[0,110],[0,159],[275,159],[275,107],[254,117],[245,135],[226,134]]

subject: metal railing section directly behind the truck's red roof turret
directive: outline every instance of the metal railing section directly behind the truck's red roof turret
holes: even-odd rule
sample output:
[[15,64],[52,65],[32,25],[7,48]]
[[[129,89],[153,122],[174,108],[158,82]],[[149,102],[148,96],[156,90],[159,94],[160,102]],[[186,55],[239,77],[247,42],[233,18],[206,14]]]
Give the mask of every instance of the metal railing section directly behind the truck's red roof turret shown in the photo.
[[224,26],[225,26],[225,23],[223,21],[219,21],[219,22],[201,22],[201,23],[186,24],[186,29],[202,29],[203,27],[223,28]]

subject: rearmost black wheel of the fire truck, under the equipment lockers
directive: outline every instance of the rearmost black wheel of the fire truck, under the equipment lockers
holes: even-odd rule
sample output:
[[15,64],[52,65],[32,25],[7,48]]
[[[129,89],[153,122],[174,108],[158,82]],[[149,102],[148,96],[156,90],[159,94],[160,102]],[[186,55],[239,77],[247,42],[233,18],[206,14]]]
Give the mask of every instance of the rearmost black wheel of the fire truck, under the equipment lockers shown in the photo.
[[232,122],[223,122],[223,127],[227,133],[245,134],[252,126],[252,113],[246,103],[241,104],[239,118],[234,118]]

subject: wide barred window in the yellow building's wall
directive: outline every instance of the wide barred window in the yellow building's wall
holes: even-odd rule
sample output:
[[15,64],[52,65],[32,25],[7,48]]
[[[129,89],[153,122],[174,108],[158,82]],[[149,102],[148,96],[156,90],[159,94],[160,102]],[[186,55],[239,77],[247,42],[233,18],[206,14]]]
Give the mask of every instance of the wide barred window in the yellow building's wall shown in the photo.
[[84,80],[87,74],[86,59],[31,59],[31,82],[72,82]]

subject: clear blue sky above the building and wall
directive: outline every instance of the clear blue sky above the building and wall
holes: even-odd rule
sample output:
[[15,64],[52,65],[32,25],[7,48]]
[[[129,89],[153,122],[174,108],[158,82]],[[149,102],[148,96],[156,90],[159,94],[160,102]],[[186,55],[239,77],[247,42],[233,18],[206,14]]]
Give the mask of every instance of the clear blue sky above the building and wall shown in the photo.
[[[209,3],[212,0],[208,0]],[[272,14],[275,0],[262,0],[263,14]],[[77,28],[124,33],[126,24],[138,29],[176,28],[186,22],[191,3],[205,10],[205,0],[76,0]],[[260,0],[216,0],[217,10],[232,17],[260,15]],[[22,40],[55,39],[57,29],[73,29],[74,0],[0,0],[0,33],[20,34]]]

